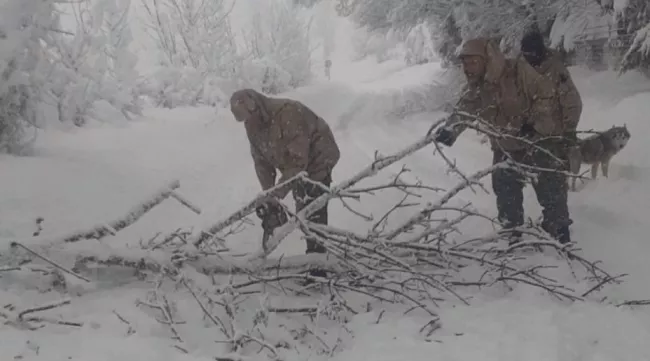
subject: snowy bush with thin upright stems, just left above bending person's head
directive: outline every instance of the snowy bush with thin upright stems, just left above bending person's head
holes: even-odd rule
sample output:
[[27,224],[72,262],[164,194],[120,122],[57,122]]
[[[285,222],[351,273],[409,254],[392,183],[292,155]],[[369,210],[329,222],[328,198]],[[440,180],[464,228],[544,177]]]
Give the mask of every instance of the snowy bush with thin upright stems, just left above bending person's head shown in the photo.
[[[225,0],[142,0],[146,28],[159,55],[143,89],[164,107],[213,105],[239,73]],[[232,89],[230,89],[232,90]]]

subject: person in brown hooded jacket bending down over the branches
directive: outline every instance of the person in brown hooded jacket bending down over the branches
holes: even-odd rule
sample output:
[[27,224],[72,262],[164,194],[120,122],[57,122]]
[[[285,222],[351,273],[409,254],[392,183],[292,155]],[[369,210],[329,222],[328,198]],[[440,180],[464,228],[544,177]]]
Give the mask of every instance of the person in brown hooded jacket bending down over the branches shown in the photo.
[[[255,173],[262,190],[283,183],[300,172],[307,172],[312,182],[298,182],[294,187],[281,187],[271,196],[283,199],[292,191],[296,212],[306,207],[329,187],[332,170],[338,163],[340,151],[329,125],[306,105],[296,100],[270,98],[253,89],[234,92],[230,109],[239,122],[243,122],[250,143]],[[281,173],[276,182],[277,171]],[[273,198],[271,198],[273,199]],[[286,216],[277,201],[269,201],[256,210],[263,226],[268,217]],[[327,205],[313,213],[310,221],[327,224]],[[278,225],[275,225],[278,226]],[[318,242],[307,239],[307,253],[324,253]]]

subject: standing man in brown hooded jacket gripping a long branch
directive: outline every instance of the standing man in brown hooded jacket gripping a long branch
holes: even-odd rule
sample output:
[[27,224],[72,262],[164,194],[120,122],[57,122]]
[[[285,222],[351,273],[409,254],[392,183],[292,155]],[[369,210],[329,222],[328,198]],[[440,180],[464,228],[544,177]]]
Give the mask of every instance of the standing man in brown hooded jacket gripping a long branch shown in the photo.
[[[506,59],[494,40],[466,41],[459,57],[467,85],[455,112],[436,131],[436,141],[452,146],[475,118],[488,122],[500,136],[490,136],[493,162],[506,159],[545,169],[563,169],[562,148],[555,138],[564,125],[554,116],[553,85],[523,59]],[[533,142],[534,145],[530,143]],[[549,154],[550,153],[550,154]],[[559,155],[559,156],[558,156]],[[504,228],[523,225],[523,176],[514,169],[492,174],[498,217]],[[542,206],[542,227],[561,243],[570,242],[566,182],[562,173],[539,171],[533,182]],[[512,232],[512,242],[521,233]]]

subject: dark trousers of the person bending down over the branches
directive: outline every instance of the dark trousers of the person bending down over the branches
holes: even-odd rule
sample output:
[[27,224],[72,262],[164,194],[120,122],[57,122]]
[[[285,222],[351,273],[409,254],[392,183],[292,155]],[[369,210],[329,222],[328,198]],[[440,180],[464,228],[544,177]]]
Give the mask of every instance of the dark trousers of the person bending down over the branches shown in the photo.
[[[332,184],[331,173],[325,179],[315,180],[323,185],[329,187]],[[298,182],[298,185],[293,190],[293,199],[296,202],[296,213],[307,207],[314,199],[325,194],[325,190],[316,184],[310,182]],[[329,202],[328,202],[329,203]],[[312,213],[307,220],[310,222],[327,225],[328,214],[327,206],[325,204],[322,208]],[[325,253],[326,249],[316,240],[307,237],[307,252],[306,253]]]

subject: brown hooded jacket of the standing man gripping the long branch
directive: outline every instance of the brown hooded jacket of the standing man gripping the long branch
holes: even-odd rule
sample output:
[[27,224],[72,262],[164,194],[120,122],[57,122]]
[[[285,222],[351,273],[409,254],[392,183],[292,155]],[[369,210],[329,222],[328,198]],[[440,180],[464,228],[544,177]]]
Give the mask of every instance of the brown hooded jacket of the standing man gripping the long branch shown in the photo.
[[[562,134],[562,122],[554,117],[553,86],[525,60],[506,59],[489,38],[465,42],[459,56],[466,55],[483,57],[485,77],[479,83],[466,85],[456,111],[478,116],[499,133],[511,136],[517,136],[525,123],[536,130],[537,139]],[[471,119],[454,112],[447,126],[457,137],[467,127],[459,121]],[[512,151],[526,147],[525,142],[512,137],[489,138],[492,149]]]

